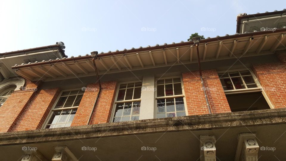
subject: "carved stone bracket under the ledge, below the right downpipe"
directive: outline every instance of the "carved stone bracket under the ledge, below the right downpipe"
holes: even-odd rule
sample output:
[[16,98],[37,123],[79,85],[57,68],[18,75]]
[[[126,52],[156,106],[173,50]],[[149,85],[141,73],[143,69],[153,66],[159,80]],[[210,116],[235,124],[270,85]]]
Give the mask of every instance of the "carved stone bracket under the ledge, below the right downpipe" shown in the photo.
[[200,136],[200,158],[201,161],[216,161],[215,136]]

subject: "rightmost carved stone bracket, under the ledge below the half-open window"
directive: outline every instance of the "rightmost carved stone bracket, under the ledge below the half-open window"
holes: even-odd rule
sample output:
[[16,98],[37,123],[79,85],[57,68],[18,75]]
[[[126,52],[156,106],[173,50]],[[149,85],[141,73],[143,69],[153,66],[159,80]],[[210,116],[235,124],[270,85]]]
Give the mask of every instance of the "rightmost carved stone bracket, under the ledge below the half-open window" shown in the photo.
[[235,161],[258,161],[259,145],[256,141],[256,134],[243,133],[238,136]]

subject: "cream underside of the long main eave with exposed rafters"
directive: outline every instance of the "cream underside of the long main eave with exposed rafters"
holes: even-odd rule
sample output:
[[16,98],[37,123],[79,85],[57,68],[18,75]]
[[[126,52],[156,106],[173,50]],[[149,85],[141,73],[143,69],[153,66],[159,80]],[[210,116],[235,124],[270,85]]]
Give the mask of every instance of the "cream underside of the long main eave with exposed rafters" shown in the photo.
[[[229,35],[200,41],[201,61],[273,54],[286,49],[286,29]],[[93,54],[93,52],[91,52]],[[99,74],[190,64],[197,62],[193,42],[107,52],[95,60]],[[60,80],[95,75],[91,55],[13,66],[31,81]]]

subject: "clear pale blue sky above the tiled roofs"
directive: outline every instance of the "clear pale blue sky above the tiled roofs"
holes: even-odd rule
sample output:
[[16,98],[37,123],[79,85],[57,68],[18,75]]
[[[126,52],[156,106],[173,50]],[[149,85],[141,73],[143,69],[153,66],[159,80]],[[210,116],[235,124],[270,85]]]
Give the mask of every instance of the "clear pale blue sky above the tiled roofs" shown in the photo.
[[[0,1],[0,53],[63,41],[66,55],[232,35],[239,13],[286,8],[286,1]],[[205,31],[202,31],[205,30]]]

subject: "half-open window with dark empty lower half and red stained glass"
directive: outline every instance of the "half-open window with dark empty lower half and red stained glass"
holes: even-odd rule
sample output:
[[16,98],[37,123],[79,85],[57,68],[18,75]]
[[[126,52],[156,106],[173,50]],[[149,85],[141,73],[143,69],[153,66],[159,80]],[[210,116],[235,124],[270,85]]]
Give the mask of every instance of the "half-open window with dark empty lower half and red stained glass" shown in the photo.
[[272,106],[250,70],[218,74],[231,112],[270,109]]

